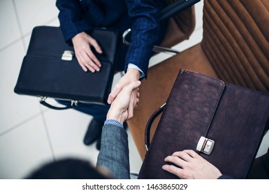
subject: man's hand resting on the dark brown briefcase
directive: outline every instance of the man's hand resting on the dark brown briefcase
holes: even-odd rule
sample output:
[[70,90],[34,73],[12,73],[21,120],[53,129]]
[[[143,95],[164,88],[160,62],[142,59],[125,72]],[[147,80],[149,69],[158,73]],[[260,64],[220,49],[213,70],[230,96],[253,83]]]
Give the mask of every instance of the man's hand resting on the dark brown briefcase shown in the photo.
[[167,156],[164,161],[179,166],[163,165],[163,170],[175,174],[181,179],[217,179],[221,176],[221,172],[217,167],[193,150],[175,152],[172,156]]

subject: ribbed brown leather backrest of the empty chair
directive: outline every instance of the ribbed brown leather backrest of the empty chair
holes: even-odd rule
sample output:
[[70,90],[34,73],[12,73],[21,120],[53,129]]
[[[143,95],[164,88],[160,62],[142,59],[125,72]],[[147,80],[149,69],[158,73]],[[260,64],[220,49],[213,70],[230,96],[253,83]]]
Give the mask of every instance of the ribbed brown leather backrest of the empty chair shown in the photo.
[[201,47],[219,79],[269,92],[269,0],[204,0]]

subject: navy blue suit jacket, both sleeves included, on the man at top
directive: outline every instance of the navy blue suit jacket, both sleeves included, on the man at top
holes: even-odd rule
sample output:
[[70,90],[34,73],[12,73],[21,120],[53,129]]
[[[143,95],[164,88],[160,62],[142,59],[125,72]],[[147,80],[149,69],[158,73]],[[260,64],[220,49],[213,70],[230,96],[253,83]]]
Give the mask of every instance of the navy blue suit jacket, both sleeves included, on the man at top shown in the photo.
[[[60,11],[59,21],[66,41],[79,32],[92,28],[132,26],[131,44],[125,56],[125,70],[128,63],[132,63],[137,65],[146,77],[152,48],[159,37],[159,2],[161,1],[115,0],[113,5],[117,6],[112,6],[111,0],[57,0],[56,6]],[[130,22],[130,25],[121,23],[121,17],[127,15],[130,18],[124,22]]]

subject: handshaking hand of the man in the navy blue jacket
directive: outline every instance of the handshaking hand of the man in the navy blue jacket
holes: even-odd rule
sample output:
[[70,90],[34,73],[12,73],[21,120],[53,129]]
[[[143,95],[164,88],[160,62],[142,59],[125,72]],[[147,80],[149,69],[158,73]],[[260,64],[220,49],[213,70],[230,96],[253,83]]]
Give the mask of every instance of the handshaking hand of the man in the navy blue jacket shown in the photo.
[[123,77],[121,77],[119,82],[117,82],[117,84],[114,85],[113,90],[110,92],[110,94],[108,96],[108,104],[111,104],[114,101],[114,99],[116,99],[119,92],[121,92],[121,90],[126,85],[129,85],[133,81],[138,81],[139,77],[140,77],[139,70],[135,70],[132,68],[128,69],[126,74],[124,74]]

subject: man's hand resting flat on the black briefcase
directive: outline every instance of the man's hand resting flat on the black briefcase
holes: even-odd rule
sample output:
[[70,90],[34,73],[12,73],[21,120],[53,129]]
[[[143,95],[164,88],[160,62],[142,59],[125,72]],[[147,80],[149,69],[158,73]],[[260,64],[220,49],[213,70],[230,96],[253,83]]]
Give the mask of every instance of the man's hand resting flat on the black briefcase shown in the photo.
[[74,52],[81,68],[85,72],[88,70],[90,70],[90,72],[99,72],[101,63],[92,53],[90,48],[92,45],[94,49],[101,54],[102,50],[97,41],[86,34],[86,32],[81,32],[72,38],[72,43],[74,45]]

